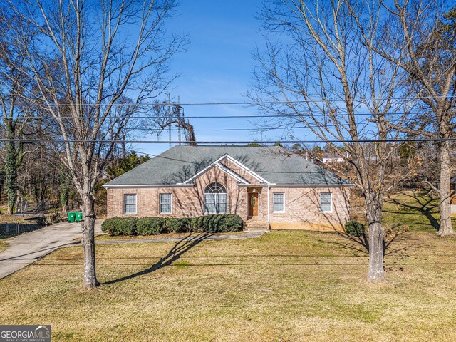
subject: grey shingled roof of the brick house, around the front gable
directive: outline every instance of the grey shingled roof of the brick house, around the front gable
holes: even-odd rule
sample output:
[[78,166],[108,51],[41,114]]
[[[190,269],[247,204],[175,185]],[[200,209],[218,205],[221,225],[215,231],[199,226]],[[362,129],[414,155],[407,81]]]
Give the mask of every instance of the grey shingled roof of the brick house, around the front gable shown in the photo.
[[281,185],[347,185],[348,182],[281,147],[176,146],[106,183],[174,185],[228,154],[270,183]]

